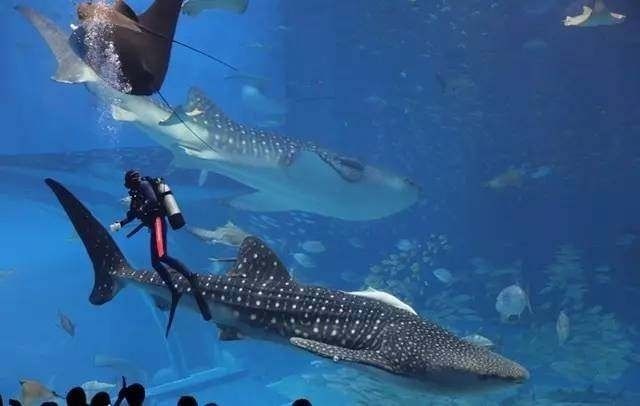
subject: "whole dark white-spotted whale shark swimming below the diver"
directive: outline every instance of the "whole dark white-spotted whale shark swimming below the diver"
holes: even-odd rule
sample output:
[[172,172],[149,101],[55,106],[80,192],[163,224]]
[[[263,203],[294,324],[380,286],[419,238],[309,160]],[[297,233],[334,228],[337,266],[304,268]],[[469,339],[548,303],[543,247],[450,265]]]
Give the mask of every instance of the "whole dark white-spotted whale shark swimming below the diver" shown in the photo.
[[[64,186],[47,179],[93,263],[89,301],[102,305],[135,286],[160,305],[170,292],[155,272],[134,270],[109,233]],[[193,292],[177,273],[181,307],[195,309]],[[307,286],[293,279],[276,254],[256,237],[240,246],[226,275],[200,275],[200,286],[221,340],[251,337],[304,349],[335,362],[379,372],[385,381],[444,391],[481,390],[520,383],[525,368],[467,343],[434,323],[386,302]],[[378,374],[378,375],[380,375]],[[395,379],[394,379],[395,380]]]

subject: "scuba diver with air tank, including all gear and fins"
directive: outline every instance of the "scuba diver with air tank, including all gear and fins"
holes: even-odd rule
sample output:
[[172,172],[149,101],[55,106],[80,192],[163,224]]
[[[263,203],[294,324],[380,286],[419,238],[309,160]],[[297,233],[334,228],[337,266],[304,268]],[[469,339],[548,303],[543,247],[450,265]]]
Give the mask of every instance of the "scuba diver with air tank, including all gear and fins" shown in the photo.
[[171,309],[169,311],[166,335],[169,335],[181,294],[171,280],[171,275],[165,264],[181,273],[189,281],[193,289],[193,297],[200,308],[202,317],[205,320],[211,320],[209,306],[200,291],[197,275],[189,271],[180,261],[169,256],[167,252],[167,222],[165,217],[169,219],[169,224],[174,230],[185,225],[184,217],[178,208],[171,189],[162,178],[142,177],[140,172],[134,169],[125,173],[124,186],[129,189],[129,196],[131,196],[129,211],[127,211],[127,216],[123,220],[111,224],[109,228],[112,232],[116,232],[133,220],[138,219],[140,224],[127,234],[127,237],[131,237],[143,227],[149,229],[151,233],[151,265],[171,291]]

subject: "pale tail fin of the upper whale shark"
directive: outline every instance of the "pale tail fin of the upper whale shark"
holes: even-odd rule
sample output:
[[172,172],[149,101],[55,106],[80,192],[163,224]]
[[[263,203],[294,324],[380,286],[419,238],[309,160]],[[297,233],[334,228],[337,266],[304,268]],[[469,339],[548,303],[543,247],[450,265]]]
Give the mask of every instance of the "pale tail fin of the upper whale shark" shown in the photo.
[[52,76],[53,80],[62,83],[83,83],[91,80],[91,70],[69,45],[69,34],[32,8],[17,6],[15,9],[38,30],[58,61],[58,70]]

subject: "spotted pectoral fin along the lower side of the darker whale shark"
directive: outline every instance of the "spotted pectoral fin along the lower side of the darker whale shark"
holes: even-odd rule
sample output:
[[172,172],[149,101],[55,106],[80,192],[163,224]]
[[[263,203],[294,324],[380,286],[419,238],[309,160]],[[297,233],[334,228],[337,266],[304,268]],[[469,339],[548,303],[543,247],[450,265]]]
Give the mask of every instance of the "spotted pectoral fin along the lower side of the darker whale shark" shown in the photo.
[[291,337],[289,342],[303,350],[322,357],[332,358],[336,362],[357,362],[381,368],[389,372],[397,372],[389,361],[372,350],[352,350],[350,348],[338,347],[336,345],[325,344],[301,337]]

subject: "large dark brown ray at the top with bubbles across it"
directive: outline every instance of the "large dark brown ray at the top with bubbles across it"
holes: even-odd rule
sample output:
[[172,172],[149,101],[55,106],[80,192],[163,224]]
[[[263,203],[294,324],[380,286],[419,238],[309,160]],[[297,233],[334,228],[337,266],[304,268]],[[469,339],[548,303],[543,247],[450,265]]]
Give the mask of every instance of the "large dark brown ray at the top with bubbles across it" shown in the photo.
[[174,42],[233,68],[174,39],[181,6],[182,0],[155,0],[136,15],[122,0],[113,6],[82,3],[77,9],[80,26],[70,41],[83,61],[110,86],[138,96],[160,90]]

